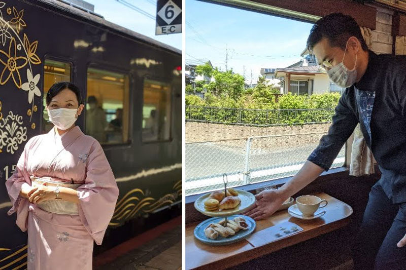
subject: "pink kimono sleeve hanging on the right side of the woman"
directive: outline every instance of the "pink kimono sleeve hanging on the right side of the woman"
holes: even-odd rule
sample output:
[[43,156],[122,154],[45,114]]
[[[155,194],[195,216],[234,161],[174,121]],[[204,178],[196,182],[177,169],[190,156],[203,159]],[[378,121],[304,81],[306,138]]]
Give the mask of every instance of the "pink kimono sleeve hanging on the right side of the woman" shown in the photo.
[[95,140],[90,147],[85,183],[78,187],[79,216],[97,245],[101,245],[113,216],[118,187],[103,148]]

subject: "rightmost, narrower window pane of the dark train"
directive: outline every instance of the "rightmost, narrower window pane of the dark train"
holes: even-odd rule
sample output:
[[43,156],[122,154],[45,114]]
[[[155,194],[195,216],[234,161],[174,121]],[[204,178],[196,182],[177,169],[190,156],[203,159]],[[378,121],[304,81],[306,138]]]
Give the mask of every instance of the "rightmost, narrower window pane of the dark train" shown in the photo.
[[142,123],[144,142],[170,140],[171,87],[169,84],[144,81]]

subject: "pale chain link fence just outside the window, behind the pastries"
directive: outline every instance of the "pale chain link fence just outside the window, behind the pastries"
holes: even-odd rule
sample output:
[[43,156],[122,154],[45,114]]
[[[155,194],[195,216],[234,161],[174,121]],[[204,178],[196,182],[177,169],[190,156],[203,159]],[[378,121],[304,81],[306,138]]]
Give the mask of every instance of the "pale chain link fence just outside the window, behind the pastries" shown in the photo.
[[[186,143],[186,195],[295,175],[326,132]],[[345,146],[331,168],[345,164]]]

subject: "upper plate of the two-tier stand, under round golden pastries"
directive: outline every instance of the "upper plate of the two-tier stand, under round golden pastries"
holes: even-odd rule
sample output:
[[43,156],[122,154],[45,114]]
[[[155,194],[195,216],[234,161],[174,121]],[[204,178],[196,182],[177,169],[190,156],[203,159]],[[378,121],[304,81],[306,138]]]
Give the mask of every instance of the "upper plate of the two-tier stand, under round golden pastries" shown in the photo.
[[205,201],[209,198],[210,193],[205,194],[197,198],[194,202],[194,208],[199,211],[200,213],[211,216],[211,217],[224,217],[230,215],[236,215],[243,213],[246,211],[250,206],[255,204],[255,196],[245,190],[235,189],[238,192],[238,197],[241,199],[241,203],[233,209],[225,209],[225,210],[215,210],[215,211],[208,211],[205,209]]

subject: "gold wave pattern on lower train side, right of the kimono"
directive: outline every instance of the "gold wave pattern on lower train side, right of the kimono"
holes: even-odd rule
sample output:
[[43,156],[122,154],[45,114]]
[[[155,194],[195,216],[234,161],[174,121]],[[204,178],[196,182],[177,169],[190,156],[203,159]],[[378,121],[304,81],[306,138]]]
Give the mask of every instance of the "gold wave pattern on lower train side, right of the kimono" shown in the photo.
[[140,188],[134,188],[128,191],[127,194],[117,202],[109,225],[117,226],[125,220],[136,217],[137,215],[149,214],[160,207],[175,203],[179,198],[182,198],[182,180],[175,183],[173,191],[174,192],[166,194],[158,200],[152,197],[146,197],[144,191]]

